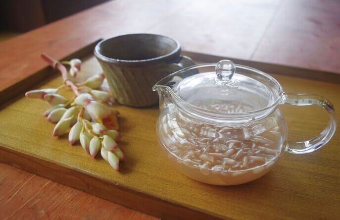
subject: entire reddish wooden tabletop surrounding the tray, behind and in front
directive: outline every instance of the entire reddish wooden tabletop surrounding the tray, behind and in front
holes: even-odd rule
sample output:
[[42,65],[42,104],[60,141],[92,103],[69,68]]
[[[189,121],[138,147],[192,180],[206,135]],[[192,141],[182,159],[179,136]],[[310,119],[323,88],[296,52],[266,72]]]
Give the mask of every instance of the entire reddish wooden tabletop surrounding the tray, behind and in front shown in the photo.
[[[0,43],[0,89],[97,38],[149,32],[183,50],[340,72],[340,2],[116,0]],[[1,128],[3,129],[3,128]],[[153,218],[0,164],[0,218]]]

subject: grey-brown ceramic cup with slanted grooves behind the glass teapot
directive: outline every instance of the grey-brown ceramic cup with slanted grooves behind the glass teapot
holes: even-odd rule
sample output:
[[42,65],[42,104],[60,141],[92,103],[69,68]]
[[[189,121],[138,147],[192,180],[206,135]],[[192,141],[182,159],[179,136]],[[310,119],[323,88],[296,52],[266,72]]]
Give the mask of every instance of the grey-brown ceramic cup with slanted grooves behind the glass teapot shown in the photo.
[[155,34],[128,34],[99,42],[95,55],[113,96],[120,104],[147,107],[158,103],[151,87],[163,77],[194,65],[180,44]]

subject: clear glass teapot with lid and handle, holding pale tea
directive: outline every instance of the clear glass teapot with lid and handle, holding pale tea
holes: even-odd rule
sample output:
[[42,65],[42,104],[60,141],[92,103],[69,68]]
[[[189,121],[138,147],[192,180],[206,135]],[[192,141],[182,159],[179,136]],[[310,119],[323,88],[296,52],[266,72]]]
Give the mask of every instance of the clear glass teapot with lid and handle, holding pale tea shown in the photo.
[[[157,136],[185,175],[214,185],[237,185],[266,174],[285,151],[313,152],[334,135],[333,105],[309,94],[287,94],[273,77],[230,60],[191,66],[161,79]],[[279,105],[319,106],[330,121],[316,137],[287,140]]]

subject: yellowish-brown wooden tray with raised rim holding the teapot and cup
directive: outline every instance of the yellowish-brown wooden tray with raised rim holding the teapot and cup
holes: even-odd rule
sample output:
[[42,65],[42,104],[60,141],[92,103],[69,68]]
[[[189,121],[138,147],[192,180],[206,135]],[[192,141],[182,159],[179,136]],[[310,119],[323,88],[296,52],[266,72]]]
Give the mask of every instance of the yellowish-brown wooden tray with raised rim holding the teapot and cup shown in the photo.
[[[67,57],[85,57],[84,74],[101,71],[92,55],[95,44]],[[225,58],[183,54],[197,63]],[[340,107],[340,77],[335,73],[233,60],[270,73],[302,73],[302,77],[317,79],[272,74],[286,92],[320,94],[333,101],[336,109]],[[279,165],[258,180],[239,186],[211,186],[180,174],[167,161],[156,138],[157,107],[118,106],[123,136],[119,146],[127,162],[117,173],[103,159],[91,159],[79,144],[69,146],[67,137],[52,137],[53,124],[43,116],[49,105],[23,97],[32,87],[61,84],[55,73],[44,68],[0,91],[0,162],[164,219],[340,218],[339,132],[315,153],[286,153]],[[292,140],[311,138],[328,121],[326,112],[318,108],[280,108]]]

